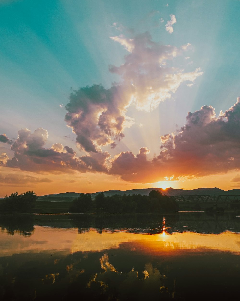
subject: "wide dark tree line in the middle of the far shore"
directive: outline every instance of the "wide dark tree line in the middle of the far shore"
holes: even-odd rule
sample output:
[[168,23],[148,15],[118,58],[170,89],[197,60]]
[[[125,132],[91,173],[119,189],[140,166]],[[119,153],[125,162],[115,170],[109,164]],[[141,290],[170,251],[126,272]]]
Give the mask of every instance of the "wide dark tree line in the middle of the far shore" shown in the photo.
[[89,193],[81,193],[70,204],[69,210],[73,213],[94,211],[110,213],[161,213],[177,211],[178,204],[172,198],[156,190],[150,191],[149,195],[115,194],[110,197],[105,197],[104,193],[100,192],[95,199]]

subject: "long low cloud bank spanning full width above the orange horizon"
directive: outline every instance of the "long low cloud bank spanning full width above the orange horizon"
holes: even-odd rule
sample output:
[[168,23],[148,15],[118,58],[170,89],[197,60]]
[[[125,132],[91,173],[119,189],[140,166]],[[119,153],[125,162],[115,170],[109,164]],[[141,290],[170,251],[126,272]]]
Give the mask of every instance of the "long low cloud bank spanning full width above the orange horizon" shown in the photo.
[[[61,143],[45,148],[47,138],[48,133],[42,128],[33,133],[29,129],[19,130],[18,138],[11,146],[13,159],[3,153],[1,164],[32,172],[104,172],[135,183],[158,182],[166,177],[183,180],[240,170],[240,97],[219,116],[210,105],[202,106],[194,113],[188,112],[186,124],[181,129],[161,136],[161,151],[152,160],[148,160],[150,151],[147,147],[142,147],[136,156],[129,151],[122,152],[109,163],[107,152],[77,157],[72,148]],[[14,175],[1,175],[0,178],[9,185],[17,179],[19,177]],[[238,180],[236,176],[232,182]],[[19,181],[21,184],[51,180],[23,177]]]

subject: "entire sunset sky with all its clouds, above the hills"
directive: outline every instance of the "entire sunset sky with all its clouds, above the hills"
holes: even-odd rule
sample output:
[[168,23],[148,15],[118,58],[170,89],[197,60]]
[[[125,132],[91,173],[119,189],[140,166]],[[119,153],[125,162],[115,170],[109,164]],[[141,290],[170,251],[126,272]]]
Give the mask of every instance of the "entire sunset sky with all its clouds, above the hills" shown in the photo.
[[237,0],[1,0],[0,197],[240,188]]

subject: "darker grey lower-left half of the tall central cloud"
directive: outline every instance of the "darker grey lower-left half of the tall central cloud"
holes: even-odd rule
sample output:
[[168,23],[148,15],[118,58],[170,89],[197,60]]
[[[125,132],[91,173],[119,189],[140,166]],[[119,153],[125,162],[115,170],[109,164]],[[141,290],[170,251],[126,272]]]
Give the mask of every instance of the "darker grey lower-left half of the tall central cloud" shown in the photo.
[[76,142],[87,152],[98,152],[99,146],[124,137],[123,129],[133,120],[126,116],[130,104],[131,85],[102,85],[80,88],[70,95],[65,107],[65,121],[76,133]]

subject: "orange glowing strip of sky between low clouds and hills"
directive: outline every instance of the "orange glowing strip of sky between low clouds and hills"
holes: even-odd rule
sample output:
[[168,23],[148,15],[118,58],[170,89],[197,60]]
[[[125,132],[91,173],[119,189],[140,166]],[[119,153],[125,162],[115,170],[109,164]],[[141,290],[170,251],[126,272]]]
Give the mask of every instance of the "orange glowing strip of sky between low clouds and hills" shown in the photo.
[[[0,176],[5,177],[7,181],[0,183],[0,197],[12,192],[35,191],[38,196],[45,194],[77,192],[94,193],[98,191],[141,189],[141,188],[183,188],[196,189],[201,187],[218,187],[223,190],[239,188],[237,182],[232,179],[238,175],[238,171],[228,172],[226,174],[208,175],[202,178],[191,178],[184,181],[159,181],[148,183],[131,183],[123,181],[119,177],[106,174],[86,173],[81,174],[37,174],[32,172],[22,172],[19,170],[11,171],[7,167],[0,167]],[[44,181],[48,182],[44,182]],[[151,180],[151,174],[149,174]]]

